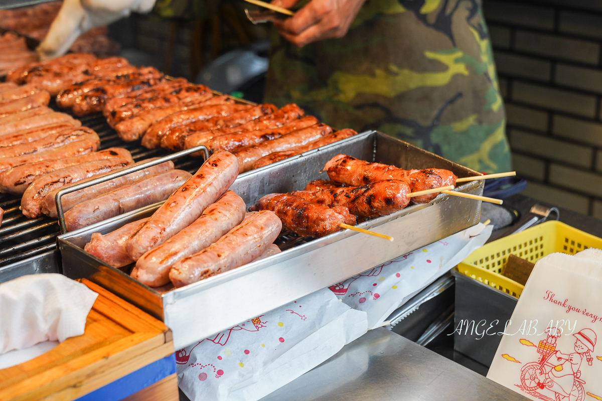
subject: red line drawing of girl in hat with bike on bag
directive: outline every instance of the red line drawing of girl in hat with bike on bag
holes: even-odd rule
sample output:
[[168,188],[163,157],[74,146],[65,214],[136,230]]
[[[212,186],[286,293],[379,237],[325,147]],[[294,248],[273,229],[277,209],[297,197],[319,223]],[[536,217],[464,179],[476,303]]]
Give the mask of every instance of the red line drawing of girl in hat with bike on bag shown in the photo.
[[[556,340],[560,337],[557,328],[548,327],[545,333],[546,339],[539,341],[537,345],[537,353],[541,355],[539,361],[523,366],[521,384],[516,386],[525,393],[545,401],[583,401],[586,394],[597,397],[585,392],[585,381],[580,379],[583,361],[586,361],[588,366],[592,365],[592,352],[596,344],[595,332],[585,328],[573,334],[574,352],[569,354],[563,354],[557,349]],[[524,338],[521,338],[520,343],[535,347],[535,344]]]

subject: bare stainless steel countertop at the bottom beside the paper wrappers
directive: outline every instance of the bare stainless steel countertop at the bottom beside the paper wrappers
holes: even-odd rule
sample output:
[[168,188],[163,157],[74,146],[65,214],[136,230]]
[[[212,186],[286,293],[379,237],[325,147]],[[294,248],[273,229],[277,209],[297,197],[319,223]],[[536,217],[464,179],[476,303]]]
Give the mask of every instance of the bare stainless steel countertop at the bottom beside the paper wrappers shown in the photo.
[[385,328],[261,401],[527,400]]

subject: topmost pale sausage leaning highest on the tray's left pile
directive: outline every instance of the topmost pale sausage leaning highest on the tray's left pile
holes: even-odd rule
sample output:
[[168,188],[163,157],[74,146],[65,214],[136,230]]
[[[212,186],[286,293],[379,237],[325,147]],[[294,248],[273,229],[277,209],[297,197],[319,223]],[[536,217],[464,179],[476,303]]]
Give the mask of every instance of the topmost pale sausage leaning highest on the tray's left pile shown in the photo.
[[132,236],[127,248],[129,256],[138,260],[149,249],[188,227],[230,188],[237,176],[234,155],[219,152],[211,156]]

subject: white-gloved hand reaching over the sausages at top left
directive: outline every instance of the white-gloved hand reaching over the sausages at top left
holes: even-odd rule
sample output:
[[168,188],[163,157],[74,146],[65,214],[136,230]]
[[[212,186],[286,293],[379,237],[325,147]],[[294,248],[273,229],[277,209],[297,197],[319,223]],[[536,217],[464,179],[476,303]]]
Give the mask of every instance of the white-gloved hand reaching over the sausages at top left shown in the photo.
[[37,52],[42,60],[65,54],[84,32],[108,25],[132,11],[147,13],[155,0],[64,0]]

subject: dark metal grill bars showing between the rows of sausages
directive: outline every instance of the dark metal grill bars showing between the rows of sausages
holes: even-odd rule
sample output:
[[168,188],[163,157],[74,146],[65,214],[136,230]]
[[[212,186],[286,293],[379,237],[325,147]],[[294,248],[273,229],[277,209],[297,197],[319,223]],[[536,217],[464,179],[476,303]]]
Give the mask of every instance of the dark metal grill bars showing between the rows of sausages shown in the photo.
[[[52,103],[51,107],[57,111],[69,113],[68,110],[59,109]],[[126,148],[131,152],[135,162],[169,155],[169,152],[161,148],[148,150],[142,147],[139,141],[123,142],[117,133],[108,126],[102,114],[75,118],[81,121],[82,126],[90,127],[98,133],[101,138],[101,149]],[[190,173],[195,173],[202,162],[202,158],[191,157],[174,161],[176,168]],[[19,210],[20,203],[20,197],[0,194],[0,207],[4,209],[4,219],[0,227],[0,266],[56,249],[56,239],[60,234],[58,221],[49,217],[28,219]]]

